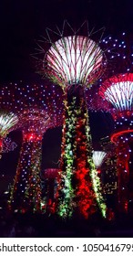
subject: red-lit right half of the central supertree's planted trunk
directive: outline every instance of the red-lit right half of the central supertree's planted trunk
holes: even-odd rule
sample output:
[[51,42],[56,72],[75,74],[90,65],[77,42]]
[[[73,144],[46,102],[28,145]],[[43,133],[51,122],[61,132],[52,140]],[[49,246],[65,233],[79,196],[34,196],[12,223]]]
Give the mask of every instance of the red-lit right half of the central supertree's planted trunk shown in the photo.
[[92,152],[91,134],[90,130],[87,131],[87,127],[89,127],[89,123],[86,102],[81,100],[77,107],[77,135],[75,141],[77,151],[76,195],[79,211],[85,218],[88,218],[96,210],[96,195],[91,179],[92,168],[95,168],[95,165],[90,154]]

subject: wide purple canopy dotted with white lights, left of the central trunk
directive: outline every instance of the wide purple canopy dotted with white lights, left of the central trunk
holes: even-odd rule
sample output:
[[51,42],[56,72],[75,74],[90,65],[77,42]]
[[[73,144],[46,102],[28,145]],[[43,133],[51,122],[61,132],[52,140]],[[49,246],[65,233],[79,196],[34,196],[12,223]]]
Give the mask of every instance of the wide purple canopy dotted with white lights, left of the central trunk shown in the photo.
[[39,125],[39,122],[41,124],[43,119],[47,119],[47,115],[50,116],[51,123],[46,124],[46,129],[56,127],[62,125],[64,108],[63,101],[57,101],[58,97],[63,97],[59,89],[55,85],[28,84],[24,81],[9,83],[0,91],[0,107],[4,113],[8,114],[11,110],[14,112],[11,112],[11,118],[13,115],[17,116],[17,128],[26,126],[26,120],[29,123],[36,120]]

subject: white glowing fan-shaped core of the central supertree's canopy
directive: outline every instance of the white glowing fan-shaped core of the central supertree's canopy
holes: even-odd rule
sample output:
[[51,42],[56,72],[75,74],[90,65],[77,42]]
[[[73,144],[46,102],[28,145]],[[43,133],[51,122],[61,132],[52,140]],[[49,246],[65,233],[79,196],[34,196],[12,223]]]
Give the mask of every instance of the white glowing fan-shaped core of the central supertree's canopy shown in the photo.
[[66,84],[85,84],[88,76],[99,69],[102,50],[87,37],[62,37],[48,50],[47,66]]

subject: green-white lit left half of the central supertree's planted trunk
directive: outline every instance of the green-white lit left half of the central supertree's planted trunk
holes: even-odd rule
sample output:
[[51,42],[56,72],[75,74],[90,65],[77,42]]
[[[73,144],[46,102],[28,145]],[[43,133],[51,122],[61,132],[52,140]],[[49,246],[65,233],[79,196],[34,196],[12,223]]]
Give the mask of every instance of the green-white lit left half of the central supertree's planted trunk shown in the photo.
[[76,134],[76,118],[73,109],[75,100],[69,105],[65,101],[65,119],[63,123],[63,135],[61,145],[61,173],[58,178],[57,189],[58,214],[63,217],[71,217],[74,209],[75,192],[72,186],[74,166],[74,136]]

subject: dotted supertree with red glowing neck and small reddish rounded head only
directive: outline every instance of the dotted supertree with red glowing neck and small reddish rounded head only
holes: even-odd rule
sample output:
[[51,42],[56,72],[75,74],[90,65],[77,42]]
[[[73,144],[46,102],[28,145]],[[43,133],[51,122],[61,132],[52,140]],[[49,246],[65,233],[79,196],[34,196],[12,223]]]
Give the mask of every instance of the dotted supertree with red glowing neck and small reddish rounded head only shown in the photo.
[[19,115],[19,122],[23,144],[16,169],[12,204],[21,205],[23,211],[30,208],[35,211],[40,209],[41,202],[42,139],[51,120],[46,111],[32,108]]

